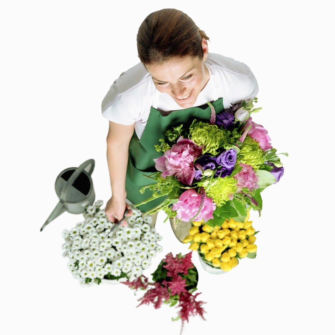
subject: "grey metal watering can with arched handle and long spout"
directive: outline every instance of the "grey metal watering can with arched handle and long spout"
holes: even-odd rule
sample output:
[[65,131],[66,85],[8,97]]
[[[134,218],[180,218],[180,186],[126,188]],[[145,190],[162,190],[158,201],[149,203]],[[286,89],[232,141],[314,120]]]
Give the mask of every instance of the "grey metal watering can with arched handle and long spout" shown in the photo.
[[57,176],[55,190],[59,203],[40,231],[65,211],[72,214],[80,214],[85,212],[85,208],[82,206],[83,203],[93,204],[95,193],[91,174],[94,170],[94,165],[94,159],[88,159],[79,167],[67,168]]

